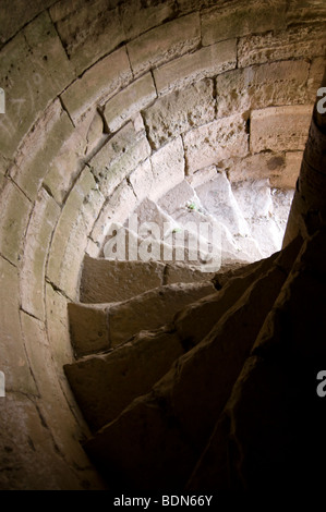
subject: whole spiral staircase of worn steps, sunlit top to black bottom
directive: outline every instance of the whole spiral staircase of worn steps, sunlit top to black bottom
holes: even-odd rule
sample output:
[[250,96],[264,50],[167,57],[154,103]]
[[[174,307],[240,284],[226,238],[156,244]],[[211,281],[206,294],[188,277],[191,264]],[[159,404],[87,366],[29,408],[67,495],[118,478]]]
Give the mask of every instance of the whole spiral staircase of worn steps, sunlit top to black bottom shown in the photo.
[[[312,425],[324,417],[300,368],[315,371],[324,320],[300,290],[323,295],[323,234],[276,251],[290,194],[273,194],[266,182],[241,186],[218,174],[144,199],[133,214],[161,237],[112,223],[102,257],[84,260],[80,302],[69,304],[76,359],[64,371],[92,432],[83,447],[109,488],[195,492],[316,477],[300,441],[311,435],[316,449]],[[259,202],[250,205],[253,190]],[[189,221],[219,223],[218,271],[186,247],[178,260],[173,235]],[[118,232],[148,258],[114,259]],[[314,322],[309,332],[300,312]]]

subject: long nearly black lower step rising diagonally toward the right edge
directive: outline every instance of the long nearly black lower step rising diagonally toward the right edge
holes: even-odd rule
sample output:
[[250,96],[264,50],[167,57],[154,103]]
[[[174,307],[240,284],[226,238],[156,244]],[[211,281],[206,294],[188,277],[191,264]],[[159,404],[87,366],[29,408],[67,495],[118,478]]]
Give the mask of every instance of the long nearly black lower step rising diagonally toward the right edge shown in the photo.
[[298,251],[286,248],[179,357],[153,390],[135,399],[84,448],[119,488],[182,489],[203,452]]

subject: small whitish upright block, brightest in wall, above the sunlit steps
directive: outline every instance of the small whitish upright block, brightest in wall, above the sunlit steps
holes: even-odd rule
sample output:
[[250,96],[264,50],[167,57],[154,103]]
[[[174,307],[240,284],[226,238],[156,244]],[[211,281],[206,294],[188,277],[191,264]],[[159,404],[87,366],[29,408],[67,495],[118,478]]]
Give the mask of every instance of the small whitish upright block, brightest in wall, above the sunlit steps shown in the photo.
[[154,183],[149,198],[157,200],[184,180],[184,154],[181,137],[166,144],[152,158]]

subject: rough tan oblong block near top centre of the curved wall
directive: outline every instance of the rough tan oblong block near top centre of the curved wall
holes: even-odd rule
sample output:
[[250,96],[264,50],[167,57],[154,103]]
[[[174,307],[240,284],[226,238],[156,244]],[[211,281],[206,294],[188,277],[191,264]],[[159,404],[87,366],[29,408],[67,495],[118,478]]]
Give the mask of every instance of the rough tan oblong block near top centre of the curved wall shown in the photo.
[[200,38],[197,13],[179,17],[143,34],[128,44],[134,76],[194,50]]

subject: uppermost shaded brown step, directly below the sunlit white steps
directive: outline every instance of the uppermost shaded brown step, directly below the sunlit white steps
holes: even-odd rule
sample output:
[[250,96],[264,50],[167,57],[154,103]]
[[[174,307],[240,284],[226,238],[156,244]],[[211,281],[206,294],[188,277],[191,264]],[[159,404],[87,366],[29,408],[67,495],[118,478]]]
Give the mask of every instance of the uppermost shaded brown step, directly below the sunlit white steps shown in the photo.
[[86,255],[80,302],[102,304],[126,301],[164,284],[208,280],[215,273],[206,272],[206,269],[202,272],[198,266],[184,263],[118,261]]

